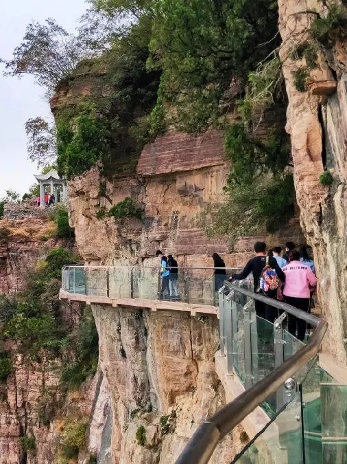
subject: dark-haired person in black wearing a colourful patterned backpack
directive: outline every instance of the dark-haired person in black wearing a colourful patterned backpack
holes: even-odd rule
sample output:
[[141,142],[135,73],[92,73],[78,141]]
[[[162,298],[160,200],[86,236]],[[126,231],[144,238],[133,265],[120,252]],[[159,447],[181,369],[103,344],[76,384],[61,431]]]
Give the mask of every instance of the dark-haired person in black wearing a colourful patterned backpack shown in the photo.
[[[232,279],[243,280],[252,272],[255,292],[259,288],[259,278],[261,277],[261,272],[263,271],[268,260],[269,266],[276,271],[278,278],[280,278],[282,282],[285,281],[285,274],[283,274],[282,269],[280,269],[280,267],[278,266],[276,259],[266,256],[265,242],[256,242],[254,244],[254,252],[256,256],[254,256],[254,258],[248,261],[242,272],[240,272],[239,274],[232,274]],[[269,298],[276,298],[276,292],[276,289],[269,290],[267,291],[266,296],[268,296]],[[271,322],[274,322],[278,314],[277,309],[275,309],[271,305],[266,305],[264,302],[257,300],[255,300],[255,311],[256,316],[259,316],[259,318],[270,320]]]

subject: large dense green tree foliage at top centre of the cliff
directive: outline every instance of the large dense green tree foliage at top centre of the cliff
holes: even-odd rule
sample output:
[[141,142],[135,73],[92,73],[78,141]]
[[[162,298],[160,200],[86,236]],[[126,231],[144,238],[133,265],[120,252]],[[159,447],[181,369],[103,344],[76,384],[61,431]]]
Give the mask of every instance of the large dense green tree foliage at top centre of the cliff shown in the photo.
[[156,2],[149,66],[163,69],[171,122],[189,133],[217,123],[229,108],[230,82],[242,87],[278,46],[277,30],[273,0]]

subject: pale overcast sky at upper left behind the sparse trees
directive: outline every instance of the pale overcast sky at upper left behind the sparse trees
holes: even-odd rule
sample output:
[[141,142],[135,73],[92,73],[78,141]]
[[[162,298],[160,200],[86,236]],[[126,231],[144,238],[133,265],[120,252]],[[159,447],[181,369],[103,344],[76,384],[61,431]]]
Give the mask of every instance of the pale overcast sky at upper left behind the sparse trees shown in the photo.
[[[0,0],[0,58],[10,59],[21,43],[25,27],[47,18],[73,32],[86,11],[85,0]],[[36,116],[50,117],[44,89],[32,76],[3,77],[0,65],[0,198],[13,188],[23,195],[34,184],[39,170],[27,159],[25,122]]]

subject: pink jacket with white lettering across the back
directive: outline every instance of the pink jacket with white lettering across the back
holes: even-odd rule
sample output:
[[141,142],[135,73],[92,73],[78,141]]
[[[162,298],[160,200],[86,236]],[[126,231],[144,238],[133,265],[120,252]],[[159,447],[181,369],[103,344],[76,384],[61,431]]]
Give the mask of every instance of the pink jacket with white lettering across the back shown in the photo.
[[285,273],[283,295],[310,298],[309,285],[311,287],[317,285],[317,278],[311,268],[300,261],[291,261],[282,270]]

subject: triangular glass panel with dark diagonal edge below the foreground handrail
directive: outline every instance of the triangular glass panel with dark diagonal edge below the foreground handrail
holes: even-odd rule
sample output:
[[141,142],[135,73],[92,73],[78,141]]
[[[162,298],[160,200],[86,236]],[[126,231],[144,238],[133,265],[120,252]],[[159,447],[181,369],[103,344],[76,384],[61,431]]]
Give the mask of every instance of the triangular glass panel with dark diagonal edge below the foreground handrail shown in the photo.
[[300,395],[296,394],[266,430],[237,456],[239,464],[303,464]]

